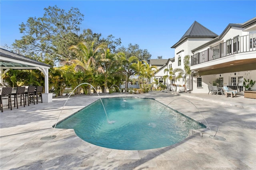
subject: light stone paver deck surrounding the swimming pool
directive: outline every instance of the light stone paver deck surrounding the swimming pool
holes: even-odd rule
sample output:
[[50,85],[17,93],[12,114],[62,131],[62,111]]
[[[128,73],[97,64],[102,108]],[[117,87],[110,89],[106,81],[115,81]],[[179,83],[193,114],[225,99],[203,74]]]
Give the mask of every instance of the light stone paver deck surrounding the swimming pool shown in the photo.
[[[121,97],[107,95],[101,97]],[[180,96],[152,91],[123,97],[148,97],[196,119],[209,127],[191,130],[180,143],[150,150],[115,150],[95,146],[76,136],[73,129],[55,129],[67,97],[51,103],[4,109],[0,113],[0,169],[67,170],[208,170],[256,169],[256,100],[243,96],[188,94]],[[98,95],[72,96],[60,119],[82,109]],[[204,118],[203,118],[204,117]],[[217,136],[225,141],[214,140]],[[211,130],[210,130],[211,129]],[[56,135],[52,140],[42,137]]]

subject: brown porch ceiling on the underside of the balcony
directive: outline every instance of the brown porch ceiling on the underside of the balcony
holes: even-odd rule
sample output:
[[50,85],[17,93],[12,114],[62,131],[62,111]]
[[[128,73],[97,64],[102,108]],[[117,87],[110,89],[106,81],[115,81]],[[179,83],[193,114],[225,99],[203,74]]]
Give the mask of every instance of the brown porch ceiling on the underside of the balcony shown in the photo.
[[220,73],[232,73],[238,71],[247,71],[256,69],[256,59],[234,60],[207,67],[196,68],[194,75],[211,75]]

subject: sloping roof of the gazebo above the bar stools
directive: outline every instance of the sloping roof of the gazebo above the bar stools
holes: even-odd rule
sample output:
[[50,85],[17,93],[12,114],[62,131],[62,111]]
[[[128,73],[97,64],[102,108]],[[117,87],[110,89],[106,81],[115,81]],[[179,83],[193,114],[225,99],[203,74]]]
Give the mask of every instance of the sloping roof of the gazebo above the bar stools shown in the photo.
[[[52,67],[23,55],[0,48],[0,67]],[[25,68],[24,68],[25,69]]]

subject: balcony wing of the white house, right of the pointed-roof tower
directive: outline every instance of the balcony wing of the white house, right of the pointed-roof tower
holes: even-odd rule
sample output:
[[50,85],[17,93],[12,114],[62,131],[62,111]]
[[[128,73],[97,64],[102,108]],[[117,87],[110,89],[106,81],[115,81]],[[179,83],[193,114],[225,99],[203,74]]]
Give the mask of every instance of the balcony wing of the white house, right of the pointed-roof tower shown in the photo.
[[235,86],[243,95],[244,78],[256,80],[256,17],[228,24],[220,36],[191,52],[192,93],[208,93],[208,85],[218,79],[219,87]]

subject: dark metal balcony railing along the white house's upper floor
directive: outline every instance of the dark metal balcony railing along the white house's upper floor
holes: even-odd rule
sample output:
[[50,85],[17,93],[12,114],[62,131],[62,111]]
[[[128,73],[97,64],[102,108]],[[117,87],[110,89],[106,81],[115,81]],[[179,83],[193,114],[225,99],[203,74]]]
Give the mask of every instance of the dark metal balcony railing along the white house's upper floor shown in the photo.
[[256,51],[256,34],[236,37],[191,56],[191,65],[197,65],[229,55]]

